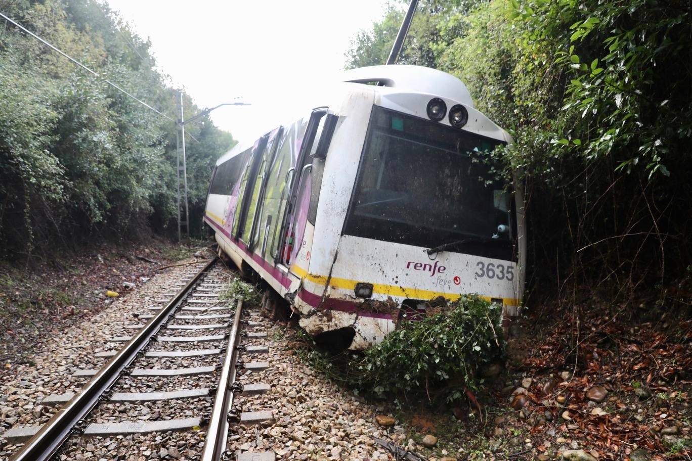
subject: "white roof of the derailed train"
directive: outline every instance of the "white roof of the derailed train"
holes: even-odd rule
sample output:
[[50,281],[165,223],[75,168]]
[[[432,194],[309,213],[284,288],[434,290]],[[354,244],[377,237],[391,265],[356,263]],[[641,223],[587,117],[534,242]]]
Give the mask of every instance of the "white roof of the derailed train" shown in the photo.
[[[373,83],[377,83],[378,85],[372,85]],[[429,93],[439,97],[446,97],[474,108],[473,100],[471,100],[471,93],[468,92],[468,88],[466,88],[466,85],[454,75],[429,67],[394,64],[390,66],[369,66],[345,70],[339,75],[338,79],[335,79],[334,85],[329,87],[326,93],[316,91],[311,94],[311,100],[306,101],[306,104],[302,108],[298,108],[298,115],[293,117],[293,119],[287,120],[287,122],[295,122],[295,120],[300,118],[300,114],[309,114],[312,109],[317,107],[314,104],[310,104],[312,101],[315,101],[315,104],[324,105],[325,96],[327,96],[327,101],[331,101],[335,95],[340,95],[349,90],[353,91],[353,84],[367,84],[367,86],[363,85],[363,90],[373,93],[392,93],[401,91]],[[264,132],[268,133],[275,128],[277,128],[277,126],[271,126]],[[217,165],[246,151],[253,147],[254,144],[255,140],[251,142],[239,142],[217,160]]]

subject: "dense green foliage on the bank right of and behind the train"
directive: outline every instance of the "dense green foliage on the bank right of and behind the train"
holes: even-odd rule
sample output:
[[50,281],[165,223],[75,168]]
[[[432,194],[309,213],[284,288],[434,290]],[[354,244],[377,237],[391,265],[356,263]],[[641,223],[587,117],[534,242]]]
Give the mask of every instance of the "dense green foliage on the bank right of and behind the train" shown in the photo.
[[[529,288],[659,288],[670,305],[689,281],[691,5],[421,1],[399,62],[457,75],[514,136],[503,158],[528,200]],[[349,66],[383,64],[404,7],[356,37]]]

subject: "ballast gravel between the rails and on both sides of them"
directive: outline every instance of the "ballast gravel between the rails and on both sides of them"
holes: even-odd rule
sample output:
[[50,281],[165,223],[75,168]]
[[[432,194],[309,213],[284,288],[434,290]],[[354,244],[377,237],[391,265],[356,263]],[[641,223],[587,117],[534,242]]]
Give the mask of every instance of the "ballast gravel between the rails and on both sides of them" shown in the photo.
[[[172,291],[171,283],[192,276],[189,267],[173,268],[159,274],[137,292],[118,299],[82,325],[62,332],[53,332],[42,350],[33,357],[34,364],[18,366],[3,377],[0,387],[0,438],[10,426],[38,425],[57,411],[42,406],[40,399],[52,393],[78,391],[88,381],[72,377],[78,369],[98,368],[107,359],[94,357],[95,352],[118,350],[124,343],[109,342],[114,336],[134,335],[126,325],[143,323],[133,313],[156,313],[145,306],[161,305],[164,293]],[[228,273],[230,276],[230,273]],[[211,311],[217,313],[216,311]],[[210,312],[210,313],[211,313]],[[224,311],[222,311],[224,312]],[[230,311],[226,311],[230,312]],[[194,314],[179,311],[179,314]],[[277,460],[392,460],[392,456],[372,437],[401,443],[409,435],[400,426],[384,428],[375,422],[382,408],[359,401],[351,392],[339,388],[329,379],[302,364],[284,339],[293,333],[282,323],[273,323],[253,312],[248,319],[262,326],[248,331],[264,331],[266,337],[243,338],[242,343],[267,346],[268,352],[244,354],[244,361],[266,361],[269,368],[242,373],[245,384],[271,384],[268,393],[238,395],[242,411],[271,411],[273,419],[262,424],[234,426],[228,438],[228,449],[235,453],[274,451]],[[185,324],[175,319],[170,323]],[[201,322],[191,322],[199,324]],[[221,322],[217,322],[221,323]],[[165,336],[219,335],[217,330],[162,330]],[[197,350],[221,348],[226,341],[194,343],[153,342],[148,350]],[[191,368],[215,365],[216,356],[185,358],[140,358],[135,368]],[[181,391],[189,388],[213,388],[218,373],[175,377],[123,377],[113,386],[114,392]],[[104,404],[89,415],[89,422],[157,421],[201,417],[210,411],[211,397],[167,400],[165,402],[127,402]],[[197,460],[203,449],[206,427],[190,427],[187,431],[117,435],[109,437],[73,437],[64,446],[61,461],[82,460]],[[17,451],[15,445],[0,448],[0,461]]]

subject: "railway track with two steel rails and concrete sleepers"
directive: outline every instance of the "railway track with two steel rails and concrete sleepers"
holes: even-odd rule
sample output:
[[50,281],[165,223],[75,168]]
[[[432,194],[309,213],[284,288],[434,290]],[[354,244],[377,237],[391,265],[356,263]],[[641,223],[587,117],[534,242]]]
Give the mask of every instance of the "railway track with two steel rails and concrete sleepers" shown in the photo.
[[[141,323],[127,326],[132,335],[109,338],[109,345],[115,347],[95,354],[108,359],[104,366],[75,373],[75,377],[91,377],[80,391],[42,399],[44,406],[60,406],[48,422],[15,427],[3,434],[10,443],[24,443],[11,460],[82,459],[71,453],[83,451],[84,446],[89,449],[89,440],[106,445],[113,455],[108,459],[129,459],[123,446],[127,453],[149,459],[152,451],[136,446],[133,439],[147,433],[155,433],[156,440],[168,440],[172,446],[154,453],[155,459],[275,459],[273,451],[257,448],[253,453],[228,451],[233,446],[228,440],[230,426],[239,424],[247,431],[273,419],[265,408],[243,411],[237,405],[239,395],[262,395],[271,388],[252,378],[243,383],[239,380],[239,373],[252,377],[268,368],[259,361],[268,352],[262,345],[264,326],[258,316],[243,319],[249,312],[242,301],[219,298],[227,276],[224,278],[216,260],[186,276],[189,278],[174,283],[170,298],[146,306],[137,316]],[[181,388],[183,377],[187,383],[207,385]],[[175,390],[166,390],[170,388]],[[255,445],[261,447],[257,429],[255,435]],[[176,446],[185,453],[181,455]]]

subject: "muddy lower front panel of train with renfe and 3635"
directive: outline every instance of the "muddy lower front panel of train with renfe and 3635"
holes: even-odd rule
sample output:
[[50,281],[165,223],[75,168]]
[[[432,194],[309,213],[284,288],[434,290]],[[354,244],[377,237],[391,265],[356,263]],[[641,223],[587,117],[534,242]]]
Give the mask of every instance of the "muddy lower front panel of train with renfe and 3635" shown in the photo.
[[[379,342],[382,332],[415,318],[425,309],[420,304],[438,297],[454,301],[462,294],[478,293],[502,303],[509,314],[516,314],[520,303],[518,267],[511,261],[448,252],[431,260],[420,247],[347,235],[340,238],[338,257],[329,271],[300,274],[302,289],[295,303],[302,314],[300,325],[313,335],[352,327],[352,348]],[[370,283],[372,295],[356,298],[358,283]]]

